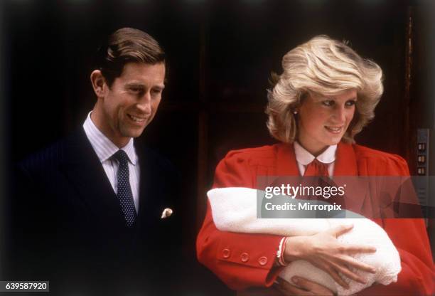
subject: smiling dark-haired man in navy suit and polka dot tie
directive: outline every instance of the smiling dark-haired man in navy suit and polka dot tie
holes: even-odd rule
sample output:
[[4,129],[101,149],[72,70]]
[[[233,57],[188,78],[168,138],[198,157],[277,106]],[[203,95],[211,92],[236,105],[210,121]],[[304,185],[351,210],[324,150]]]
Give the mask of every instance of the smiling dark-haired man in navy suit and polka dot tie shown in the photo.
[[156,115],[165,70],[143,31],[121,28],[100,48],[83,126],[18,165],[9,280],[50,280],[55,294],[176,289],[176,173],[133,139]]

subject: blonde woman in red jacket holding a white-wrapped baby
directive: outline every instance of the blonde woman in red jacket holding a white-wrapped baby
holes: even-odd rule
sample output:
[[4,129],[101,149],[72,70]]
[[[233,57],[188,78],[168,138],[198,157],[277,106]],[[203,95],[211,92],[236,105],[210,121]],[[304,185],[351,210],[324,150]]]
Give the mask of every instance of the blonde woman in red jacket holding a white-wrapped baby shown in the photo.
[[[401,157],[356,145],[353,139],[374,117],[383,92],[382,70],[376,63],[361,58],[345,43],[317,36],[289,51],[282,67],[283,73],[269,91],[267,106],[267,127],[280,143],[229,152],[218,164],[213,187],[255,189],[257,176],[409,175]],[[431,295],[434,270],[424,221],[375,222],[387,231],[399,251],[402,271],[397,282],[373,285],[358,295]],[[198,260],[235,290],[270,287],[280,265],[297,259],[308,260],[346,287],[340,273],[364,282],[353,270],[373,272],[370,265],[358,263],[348,254],[374,250],[341,245],[336,240],[351,228],[341,226],[315,236],[291,238],[229,233],[215,227],[209,203],[198,234]],[[282,252],[277,254],[277,250]],[[304,279],[278,287],[286,295],[331,293]]]

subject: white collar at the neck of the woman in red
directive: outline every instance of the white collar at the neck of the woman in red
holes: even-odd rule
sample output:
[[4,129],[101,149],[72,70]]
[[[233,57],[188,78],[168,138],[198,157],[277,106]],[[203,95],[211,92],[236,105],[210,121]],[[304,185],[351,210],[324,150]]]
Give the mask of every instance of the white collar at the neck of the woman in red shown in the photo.
[[294,154],[296,155],[296,162],[298,163],[298,168],[301,176],[304,176],[306,166],[313,162],[315,158],[319,162],[326,164],[329,176],[333,176],[336,151],[337,145],[332,145],[328,147],[322,154],[318,155],[318,157],[314,157],[310,152],[306,151],[306,149],[302,147],[301,144],[295,141]]

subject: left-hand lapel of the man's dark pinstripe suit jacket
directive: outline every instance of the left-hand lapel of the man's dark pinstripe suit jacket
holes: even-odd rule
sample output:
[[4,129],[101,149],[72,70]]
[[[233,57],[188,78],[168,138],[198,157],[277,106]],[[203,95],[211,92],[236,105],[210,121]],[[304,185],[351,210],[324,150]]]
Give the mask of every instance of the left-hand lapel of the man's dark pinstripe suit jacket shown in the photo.
[[83,129],[67,140],[65,162],[60,169],[97,220],[125,226],[117,196]]

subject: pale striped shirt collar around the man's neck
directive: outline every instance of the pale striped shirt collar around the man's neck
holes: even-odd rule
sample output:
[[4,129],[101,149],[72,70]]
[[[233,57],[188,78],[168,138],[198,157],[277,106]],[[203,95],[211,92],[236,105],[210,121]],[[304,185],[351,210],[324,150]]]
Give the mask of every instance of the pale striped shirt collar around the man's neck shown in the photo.
[[[87,114],[85,123],[83,123],[83,129],[85,129],[87,139],[89,139],[98,159],[100,159],[100,162],[105,162],[107,159],[112,157],[119,148],[95,126],[90,118],[91,113],[92,111]],[[127,145],[121,149],[127,153],[131,164],[136,165],[137,156],[136,151],[134,150],[133,138],[131,138]]]

